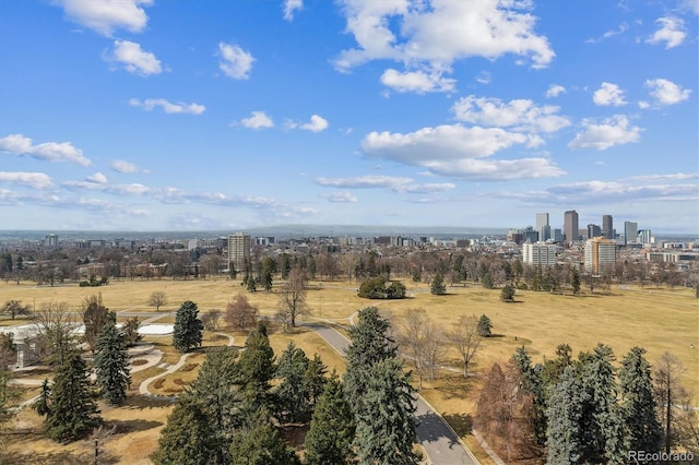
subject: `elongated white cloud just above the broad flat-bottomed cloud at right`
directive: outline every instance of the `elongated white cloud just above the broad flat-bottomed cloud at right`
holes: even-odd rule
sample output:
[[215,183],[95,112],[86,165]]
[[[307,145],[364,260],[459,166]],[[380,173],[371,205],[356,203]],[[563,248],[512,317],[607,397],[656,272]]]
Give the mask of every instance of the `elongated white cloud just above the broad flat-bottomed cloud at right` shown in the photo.
[[555,132],[570,126],[568,118],[556,115],[559,109],[553,105],[540,107],[529,99],[503,103],[474,95],[460,98],[452,107],[460,121],[533,132]]

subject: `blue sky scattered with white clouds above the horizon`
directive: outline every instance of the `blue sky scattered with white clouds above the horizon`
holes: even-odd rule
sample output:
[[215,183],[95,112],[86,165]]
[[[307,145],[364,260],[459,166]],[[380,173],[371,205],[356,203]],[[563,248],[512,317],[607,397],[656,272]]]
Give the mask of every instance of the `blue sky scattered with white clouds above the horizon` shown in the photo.
[[699,1],[0,2],[0,229],[699,231]]

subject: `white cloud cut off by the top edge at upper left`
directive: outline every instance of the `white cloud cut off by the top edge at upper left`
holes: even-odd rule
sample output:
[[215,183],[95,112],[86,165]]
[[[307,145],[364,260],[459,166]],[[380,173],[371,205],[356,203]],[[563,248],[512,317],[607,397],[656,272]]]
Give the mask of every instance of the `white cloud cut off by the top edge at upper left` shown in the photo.
[[110,37],[115,29],[140,33],[149,21],[143,7],[153,0],[56,0],[69,20]]

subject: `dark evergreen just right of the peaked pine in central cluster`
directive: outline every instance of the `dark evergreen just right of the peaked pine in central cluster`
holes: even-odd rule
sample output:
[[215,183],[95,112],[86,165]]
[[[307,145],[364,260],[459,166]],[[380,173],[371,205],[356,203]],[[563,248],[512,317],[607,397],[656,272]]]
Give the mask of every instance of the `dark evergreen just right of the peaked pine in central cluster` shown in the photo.
[[275,390],[280,417],[283,421],[308,421],[310,417],[309,392],[304,383],[308,357],[293,342],[280,356],[275,377],[282,382]]

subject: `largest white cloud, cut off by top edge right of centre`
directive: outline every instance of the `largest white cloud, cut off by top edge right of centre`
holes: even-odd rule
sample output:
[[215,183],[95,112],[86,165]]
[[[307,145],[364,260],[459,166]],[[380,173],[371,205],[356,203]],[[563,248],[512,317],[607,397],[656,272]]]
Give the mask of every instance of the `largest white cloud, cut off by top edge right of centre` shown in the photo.
[[[394,60],[405,70],[384,73],[382,81],[400,80],[403,92],[427,92],[425,76],[451,72],[455,60],[483,57],[495,60],[511,53],[544,68],[555,53],[534,29],[531,2],[341,0],[346,32],[357,46],[333,60],[340,71],[371,60]],[[467,26],[464,26],[467,25]],[[420,75],[420,71],[424,75]],[[416,74],[412,74],[416,73]],[[419,84],[408,83],[418,80]],[[433,79],[435,81],[435,79]],[[453,82],[441,81],[450,86]],[[435,85],[430,88],[439,88]]]

